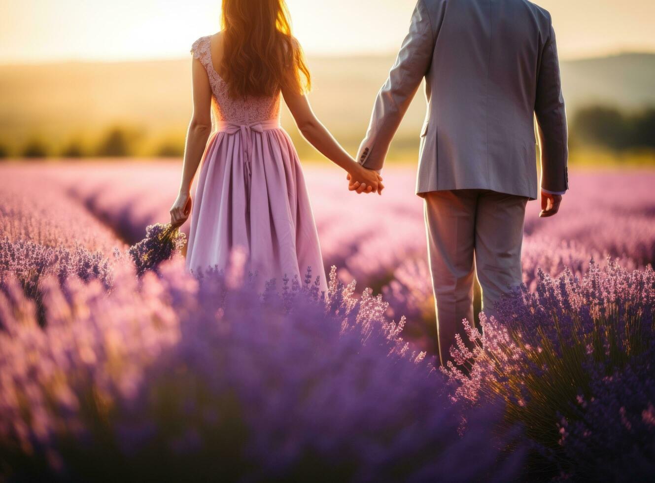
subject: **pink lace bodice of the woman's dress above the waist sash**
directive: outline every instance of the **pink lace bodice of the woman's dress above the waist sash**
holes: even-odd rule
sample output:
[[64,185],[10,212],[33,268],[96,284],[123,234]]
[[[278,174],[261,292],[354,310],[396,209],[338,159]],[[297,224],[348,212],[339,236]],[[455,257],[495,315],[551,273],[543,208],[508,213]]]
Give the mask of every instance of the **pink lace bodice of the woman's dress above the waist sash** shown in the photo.
[[227,92],[227,83],[217,73],[212,62],[210,35],[205,35],[191,45],[191,53],[200,60],[207,71],[212,87],[212,114],[214,121],[230,121],[239,124],[251,124],[280,116],[280,92],[274,97],[231,98]]

